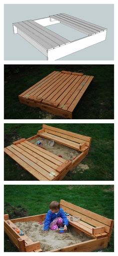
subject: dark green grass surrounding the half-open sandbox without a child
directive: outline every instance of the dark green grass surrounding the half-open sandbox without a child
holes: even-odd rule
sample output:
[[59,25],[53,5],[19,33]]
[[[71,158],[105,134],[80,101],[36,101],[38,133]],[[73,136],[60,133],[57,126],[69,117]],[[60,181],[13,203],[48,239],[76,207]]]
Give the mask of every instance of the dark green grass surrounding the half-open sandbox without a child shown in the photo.
[[[89,169],[74,168],[64,180],[113,180],[113,124],[48,124],[57,128],[90,136],[88,155],[81,162]],[[19,138],[29,138],[42,128],[42,124],[4,124],[4,146]],[[15,161],[4,155],[4,180],[36,180]]]

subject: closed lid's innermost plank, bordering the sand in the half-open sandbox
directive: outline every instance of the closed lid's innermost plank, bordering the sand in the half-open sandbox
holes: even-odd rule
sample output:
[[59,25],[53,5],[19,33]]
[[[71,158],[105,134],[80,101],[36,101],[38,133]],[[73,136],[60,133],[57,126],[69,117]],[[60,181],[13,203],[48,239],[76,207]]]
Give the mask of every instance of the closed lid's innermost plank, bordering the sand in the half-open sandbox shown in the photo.
[[[30,144],[31,144],[31,143],[28,142],[28,141],[25,141],[25,143],[28,144],[29,146],[30,146]],[[60,165],[61,163],[64,163],[64,162],[65,162],[65,159],[60,158],[59,156],[56,156],[56,155],[54,155],[53,153],[51,153],[51,152],[49,152],[49,151],[47,151],[47,150],[45,150],[45,149],[43,149],[43,148],[37,147],[37,146],[34,145],[34,144],[31,144],[31,146],[34,147],[34,148],[36,148],[36,149],[38,149],[39,151],[45,153],[46,155],[51,156],[53,159],[57,160],[57,161],[58,161],[58,162],[56,162],[57,165]]]

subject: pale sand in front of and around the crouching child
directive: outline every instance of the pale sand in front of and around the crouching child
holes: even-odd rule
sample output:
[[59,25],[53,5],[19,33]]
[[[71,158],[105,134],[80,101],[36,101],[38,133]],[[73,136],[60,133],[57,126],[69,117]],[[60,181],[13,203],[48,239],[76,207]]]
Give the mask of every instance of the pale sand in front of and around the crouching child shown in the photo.
[[40,225],[35,221],[16,222],[15,225],[23,230],[23,232],[32,240],[40,241],[41,249],[43,251],[59,249],[65,246],[69,246],[81,241],[87,241],[91,238],[86,236],[83,232],[80,234],[75,233],[71,227],[67,228],[67,231],[63,234],[59,234],[58,231],[48,230],[43,231],[43,224]]

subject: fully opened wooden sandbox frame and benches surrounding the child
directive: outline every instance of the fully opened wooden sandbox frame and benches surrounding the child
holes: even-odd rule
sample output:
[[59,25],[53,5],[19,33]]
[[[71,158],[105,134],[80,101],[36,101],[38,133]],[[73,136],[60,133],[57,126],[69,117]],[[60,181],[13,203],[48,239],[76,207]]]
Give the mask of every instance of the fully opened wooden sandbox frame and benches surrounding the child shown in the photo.
[[[71,216],[79,216],[80,220],[70,221],[69,225],[74,229],[76,233],[81,231],[85,233],[89,239],[88,241],[72,244],[60,249],[54,249],[50,251],[94,251],[97,249],[103,249],[107,247],[110,241],[110,236],[113,228],[113,220],[103,217],[99,214],[83,209],[77,205],[60,200],[60,207]],[[12,243],[18,248],[19,251],[32,251],[40,252],[40,242],[33,242],[27,235],[20,236],[15,230],[17,221],[43,221],[46,214],[40,214],[35,216],[28,216],[23,218],[15,218],[9,220],[8,214],[4,215],[4,231],[9,236]],[[70,217],[68,217],[69,219]]]

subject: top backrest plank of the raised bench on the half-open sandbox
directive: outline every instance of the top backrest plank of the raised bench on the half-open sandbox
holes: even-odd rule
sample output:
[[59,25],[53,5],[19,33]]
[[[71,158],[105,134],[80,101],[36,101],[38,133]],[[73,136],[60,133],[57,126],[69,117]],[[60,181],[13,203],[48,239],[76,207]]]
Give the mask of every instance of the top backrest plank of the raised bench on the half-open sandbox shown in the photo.
[[63,130],[63,129],[60,129],[60,128],[55,128],[53,126],[49,126],[49,125],[46,125],[46,124],[42,124],[42,128],[44,129],[44,131],[45,131],[45,129],[56,131],[56,132],[66,134],[66,135],[69,135],[69,136],[72,136],[74,138],[81,139],[81,140],[84,140],[84,141],[87,141],[87,142],[89,142],[91,140],[91,137],[84,136],[84,135],[77,134],[77,133],[70,132],[70,131],[66,131],[66,130]]

